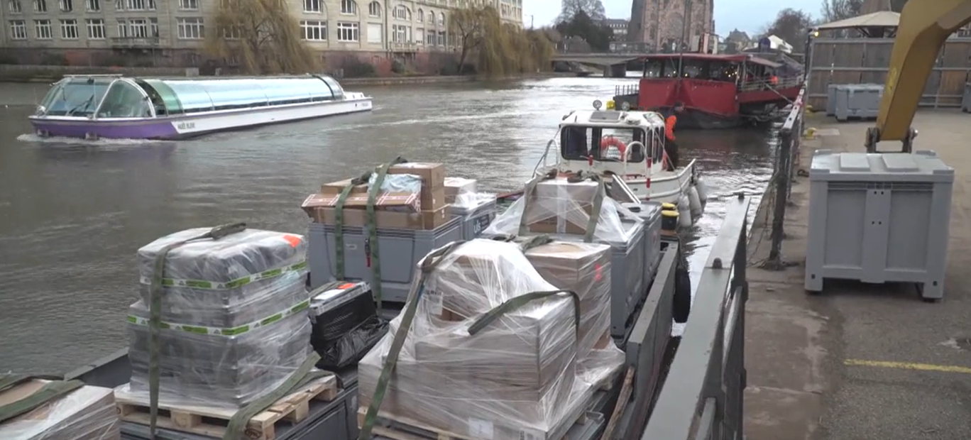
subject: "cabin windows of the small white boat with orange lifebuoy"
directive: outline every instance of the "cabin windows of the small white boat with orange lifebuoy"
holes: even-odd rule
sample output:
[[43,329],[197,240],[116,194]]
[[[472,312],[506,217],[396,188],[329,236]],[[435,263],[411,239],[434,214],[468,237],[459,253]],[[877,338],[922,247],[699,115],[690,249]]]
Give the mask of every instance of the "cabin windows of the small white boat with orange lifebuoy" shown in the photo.
[[[604,128],[565,126],[560,130],[560,155],[566,160],[599,160],[619,162],[633,141],[645,144],[643,128]],[[645,151],[635,148],[627,162],[643,162]]]

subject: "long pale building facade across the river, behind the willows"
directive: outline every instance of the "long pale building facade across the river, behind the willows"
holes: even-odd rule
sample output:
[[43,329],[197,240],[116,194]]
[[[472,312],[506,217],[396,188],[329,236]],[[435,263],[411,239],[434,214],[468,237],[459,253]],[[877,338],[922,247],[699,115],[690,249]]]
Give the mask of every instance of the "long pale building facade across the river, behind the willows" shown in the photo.
[[[20,63],[103,65],[107,57],[139,64],[197,66],[217,2],[233,0],[0,0],[0,44]],[[454,51],[451,11],[490,4],[522,25],[522,0],[283,0],[308,46],[328,57]],[[229,63],[232,64],[231,60]]]

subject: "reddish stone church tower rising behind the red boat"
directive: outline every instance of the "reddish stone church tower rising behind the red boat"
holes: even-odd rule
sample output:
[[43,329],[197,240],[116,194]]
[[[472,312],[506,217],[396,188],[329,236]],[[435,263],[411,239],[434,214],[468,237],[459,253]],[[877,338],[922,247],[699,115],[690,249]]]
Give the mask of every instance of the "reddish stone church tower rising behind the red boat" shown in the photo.
[[715,32],[714,0],[634,0],[628,31],[630,41],[653,45],[656,50],[702,50]]

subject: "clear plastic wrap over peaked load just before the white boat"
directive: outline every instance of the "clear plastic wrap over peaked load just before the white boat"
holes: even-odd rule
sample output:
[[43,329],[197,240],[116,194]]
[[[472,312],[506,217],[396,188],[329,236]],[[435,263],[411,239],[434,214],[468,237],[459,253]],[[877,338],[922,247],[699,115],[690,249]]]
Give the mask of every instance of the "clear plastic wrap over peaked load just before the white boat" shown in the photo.
[[517,235],[520,226],[536,234],[586,234],[597,197],[603,195],[599,217],[593,232],[596,242],[626,243],[643,226],[644,220],[603,194],[596,182],[568,182],[552,179],[536,184],[506,212],[496,217],[485,229],[488,235]]

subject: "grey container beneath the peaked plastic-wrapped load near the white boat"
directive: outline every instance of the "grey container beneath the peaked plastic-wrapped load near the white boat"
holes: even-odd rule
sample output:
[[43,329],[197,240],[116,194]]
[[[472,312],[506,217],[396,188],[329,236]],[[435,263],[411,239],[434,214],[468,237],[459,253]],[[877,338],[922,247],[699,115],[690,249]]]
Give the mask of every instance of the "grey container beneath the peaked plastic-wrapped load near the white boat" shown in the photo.
[[[627,220],[621,220],[628,223]],[[629,221],[629,239],[626,242],[600,241],[597,243],[611,247],[610,259],[610,327],[611,335],[623,336],[626,332],[627,321],[647,296],[647,286],[644,285],[646,269],[645,250],[646,240],[644,223],[633,224]],[[553,240],[567,242],[583,242],[583,235],[549,234]]]

